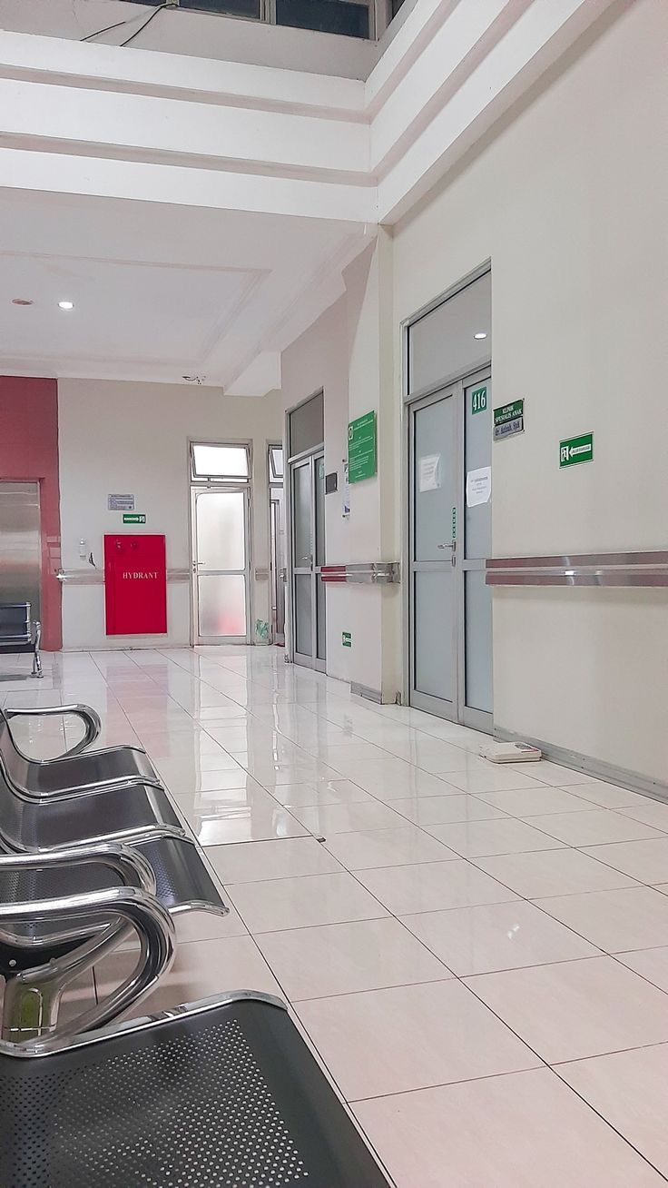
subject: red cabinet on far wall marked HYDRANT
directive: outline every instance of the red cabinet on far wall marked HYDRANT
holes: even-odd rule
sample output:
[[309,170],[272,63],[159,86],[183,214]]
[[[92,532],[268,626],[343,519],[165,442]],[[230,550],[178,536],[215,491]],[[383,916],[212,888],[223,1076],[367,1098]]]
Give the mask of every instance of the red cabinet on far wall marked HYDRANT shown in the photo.
[[104,537],[104,607],[108,636],[166,633],[164,536]]

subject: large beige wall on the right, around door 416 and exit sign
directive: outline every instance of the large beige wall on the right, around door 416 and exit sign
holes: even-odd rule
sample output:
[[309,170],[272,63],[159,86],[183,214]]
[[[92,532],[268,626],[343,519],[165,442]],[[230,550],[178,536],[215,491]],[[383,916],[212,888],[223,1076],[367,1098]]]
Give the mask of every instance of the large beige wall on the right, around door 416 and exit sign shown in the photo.
[[[396,324],[492,261],[495,404],[526,402],[494,449],[497,556],[667,546],[668,8],[613,12],[395,235]],[[668,778],[667,592],[495,593],[494,684],[498,727]]]

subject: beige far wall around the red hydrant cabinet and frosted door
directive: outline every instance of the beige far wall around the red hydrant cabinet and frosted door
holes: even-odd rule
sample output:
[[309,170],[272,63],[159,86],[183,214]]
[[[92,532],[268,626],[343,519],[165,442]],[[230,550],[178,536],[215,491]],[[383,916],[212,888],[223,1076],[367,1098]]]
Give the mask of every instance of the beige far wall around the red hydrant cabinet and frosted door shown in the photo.
[[[253,447],[252,563],[268,565],[267,444],[280,441],[279,402],[223,397],[217,388],[104,380],[58,381],[61,530],[64,569],[82,569],[83,537],[98,569],[102,537],[121,529],[107,511],[110,492],[133,492],[146,532],[164,532],[167,568],[190,567],[189,438],[248,441]],[[140,530],[141,531],[141,530]],[[63,646],[190,643],[190,582],[167,587],[168,633],[108,639],[102,586],[65,584]],[[269,619],[268,582],[253,581],[252,624]]]

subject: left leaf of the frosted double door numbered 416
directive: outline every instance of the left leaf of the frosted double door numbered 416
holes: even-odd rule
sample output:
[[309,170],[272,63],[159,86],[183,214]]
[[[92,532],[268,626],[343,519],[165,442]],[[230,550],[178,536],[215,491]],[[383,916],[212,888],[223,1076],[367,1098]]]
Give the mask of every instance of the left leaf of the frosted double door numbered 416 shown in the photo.
[[411,704],[457,718],[456,402],[445,390],[411,407]]

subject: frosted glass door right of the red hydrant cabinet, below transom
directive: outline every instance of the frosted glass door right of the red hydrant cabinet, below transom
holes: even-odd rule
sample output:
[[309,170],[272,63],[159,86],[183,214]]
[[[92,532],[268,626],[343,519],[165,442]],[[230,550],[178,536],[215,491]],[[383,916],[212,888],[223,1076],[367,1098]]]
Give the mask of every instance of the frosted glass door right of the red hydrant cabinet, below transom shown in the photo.
[[192,520],[195,640],[248,643],[248,489],[193,491]]

